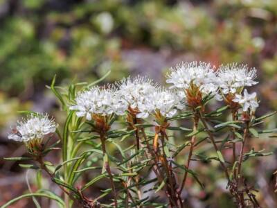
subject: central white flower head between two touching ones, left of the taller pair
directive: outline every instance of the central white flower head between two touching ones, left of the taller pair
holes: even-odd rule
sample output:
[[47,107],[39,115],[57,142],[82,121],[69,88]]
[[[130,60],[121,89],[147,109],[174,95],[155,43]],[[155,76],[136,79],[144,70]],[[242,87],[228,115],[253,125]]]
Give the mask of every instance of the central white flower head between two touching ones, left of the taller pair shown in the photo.
[[147,118],[152,109],[153,93],[157,85],[149,78],[142,76],[136,76],[133,79],[130,77],[124,78],[119,83],[116,83],[116,85],[119,88],[118,94],[127,102],[127,107],[140,112],[136,117]]

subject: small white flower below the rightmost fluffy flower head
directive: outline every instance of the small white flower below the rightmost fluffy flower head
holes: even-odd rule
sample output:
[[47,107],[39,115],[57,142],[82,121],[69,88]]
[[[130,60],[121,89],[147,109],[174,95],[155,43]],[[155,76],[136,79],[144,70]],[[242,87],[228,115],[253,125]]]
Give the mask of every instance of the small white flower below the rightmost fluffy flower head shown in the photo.
[[235,94],[235,98],[233,99],[235,103],[240,103],[242,105],[242,110],[246,112],[248,109],[251,111],[255,111],[256,108],[259,106],[257,102],[256,92],[249,94],[247,89],[244,89],[244,95]]

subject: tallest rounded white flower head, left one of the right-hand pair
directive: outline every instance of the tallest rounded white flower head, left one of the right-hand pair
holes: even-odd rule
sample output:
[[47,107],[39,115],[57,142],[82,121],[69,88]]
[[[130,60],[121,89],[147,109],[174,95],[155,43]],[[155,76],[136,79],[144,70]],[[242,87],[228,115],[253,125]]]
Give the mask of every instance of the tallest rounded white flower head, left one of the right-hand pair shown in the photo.
[[205,62],[182,62],[170,69],[168,80],[173,86],[170,88],[189,89],[191,85],[199,87],[203,94],[216,94],[217,85],[215,67]]

